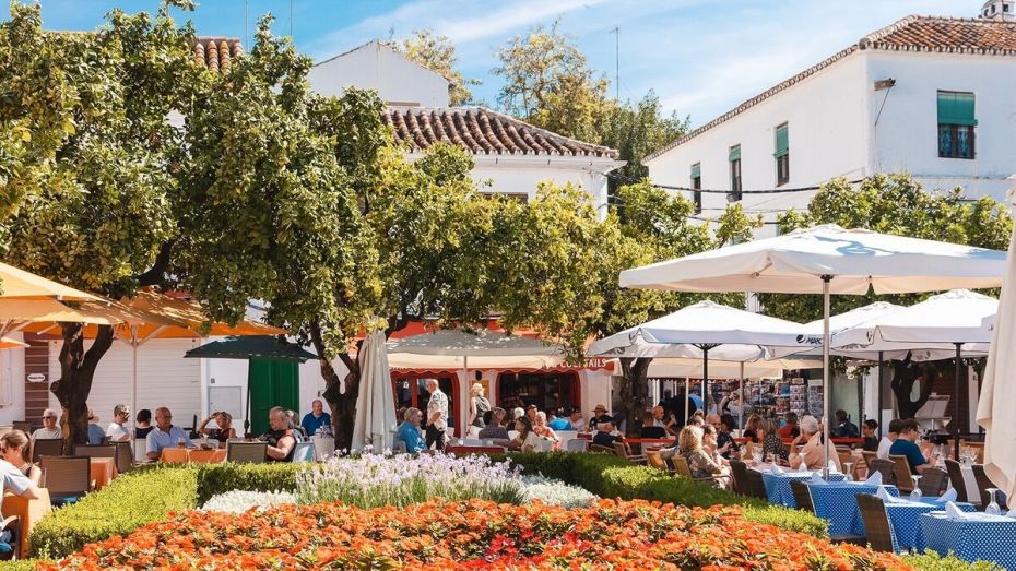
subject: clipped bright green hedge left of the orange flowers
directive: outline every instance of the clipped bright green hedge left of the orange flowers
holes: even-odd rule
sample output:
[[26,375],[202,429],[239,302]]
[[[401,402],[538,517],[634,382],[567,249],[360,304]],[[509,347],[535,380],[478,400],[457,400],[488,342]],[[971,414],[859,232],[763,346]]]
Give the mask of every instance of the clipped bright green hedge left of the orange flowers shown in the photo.
[[32,557],[60,558],[88,543],[126,535],[169,512],[198,507],[191,468],[145,468],[125,474],[81,501],[54,511],[32,531]]

